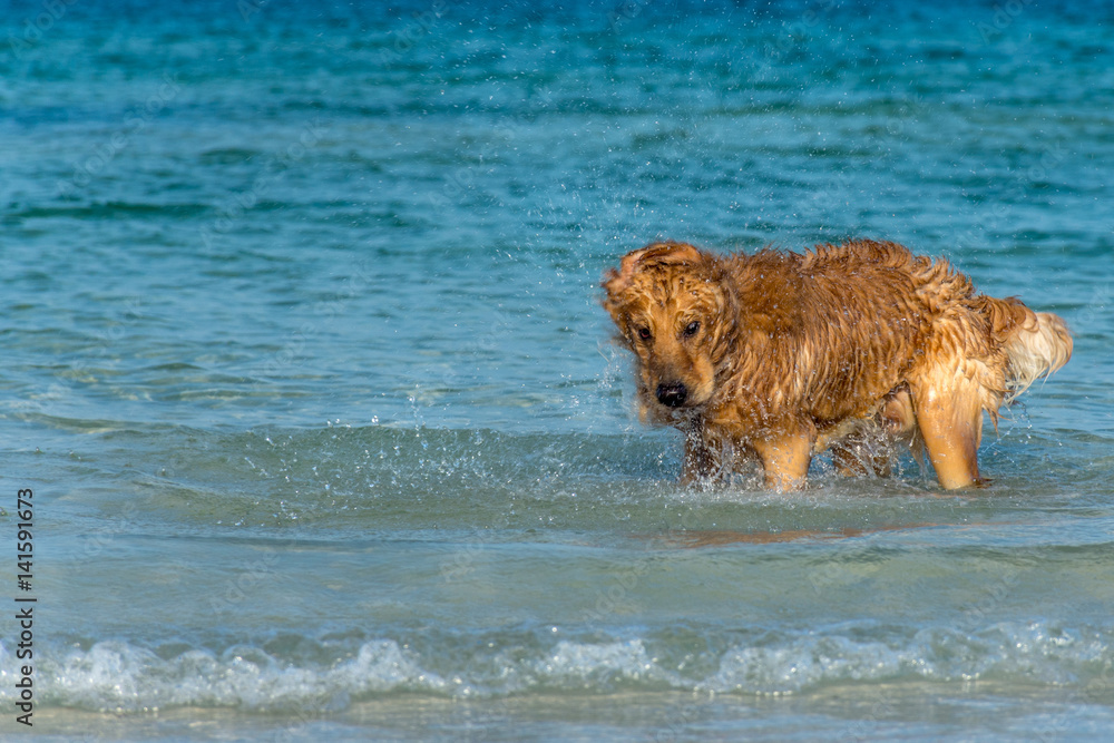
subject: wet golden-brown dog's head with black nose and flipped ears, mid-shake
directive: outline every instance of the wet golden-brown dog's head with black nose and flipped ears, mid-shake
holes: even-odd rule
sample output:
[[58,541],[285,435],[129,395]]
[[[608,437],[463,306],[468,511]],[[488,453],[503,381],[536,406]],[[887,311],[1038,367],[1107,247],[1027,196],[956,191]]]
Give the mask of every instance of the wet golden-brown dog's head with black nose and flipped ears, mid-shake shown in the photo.
[[653,243],[604,276],[604,309],[637,359],[642,413],[677,422],[715,393],[732,313],[720,260],[686,243]]

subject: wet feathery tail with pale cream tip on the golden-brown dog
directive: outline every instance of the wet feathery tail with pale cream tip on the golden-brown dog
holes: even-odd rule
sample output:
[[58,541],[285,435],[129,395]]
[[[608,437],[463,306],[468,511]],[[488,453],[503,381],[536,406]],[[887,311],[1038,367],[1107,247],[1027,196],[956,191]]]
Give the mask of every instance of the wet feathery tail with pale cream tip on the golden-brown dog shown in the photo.
[[[1006,395],[1009,404],[1033,382],[1047,377],[1072,358],[1072,333],[1067,323],[1051,312],[1033,312],[1018,300],[997,300],[995,330],[1005,334]],[[1005,305],[1005,306],[1004,306]],[[999,326],[999,317],[1006,320]],[[1007,320],[1008,317],[1008,320]]]

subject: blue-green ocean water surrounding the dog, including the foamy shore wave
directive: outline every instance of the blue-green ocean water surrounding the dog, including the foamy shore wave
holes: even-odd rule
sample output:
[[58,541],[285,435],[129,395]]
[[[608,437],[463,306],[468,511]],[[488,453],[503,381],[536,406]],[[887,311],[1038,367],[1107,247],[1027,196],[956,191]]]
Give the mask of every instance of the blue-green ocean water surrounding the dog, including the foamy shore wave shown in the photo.
[[[1114,731],[1108,3],[2,8],[0,735]],[[993,486],[680,487],[602,273],[850,236],[1071,324]]]

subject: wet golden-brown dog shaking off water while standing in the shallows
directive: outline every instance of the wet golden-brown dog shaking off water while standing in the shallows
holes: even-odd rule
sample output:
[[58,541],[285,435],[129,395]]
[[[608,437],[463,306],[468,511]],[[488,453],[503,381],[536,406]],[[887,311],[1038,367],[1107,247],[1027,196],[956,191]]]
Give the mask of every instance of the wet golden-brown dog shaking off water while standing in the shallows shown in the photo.
[[766,487],[797,489],[829,450],[842,473],[887,475],[905,443],[942,488],[983,486],[983,412],[997,428],[1072,355],[1061,317],[891,242],[750,255],[652,243],[602,286],[634,353],[639,418],[684,432],[683,482],[756,459]]

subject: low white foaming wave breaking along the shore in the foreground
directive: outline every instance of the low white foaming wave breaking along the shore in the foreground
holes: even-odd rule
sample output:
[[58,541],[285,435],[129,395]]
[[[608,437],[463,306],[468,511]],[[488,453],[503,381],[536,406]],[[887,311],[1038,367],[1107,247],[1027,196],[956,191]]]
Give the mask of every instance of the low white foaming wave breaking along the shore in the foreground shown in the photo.
[[[343,710],[395,693],[442,698],[681,691],[782,695],[840,684],[995,681],[1056,686],[1081,702],[1114,688],[1114,628],[1001,623],[973,633],[858,625],[785,634],[663,629],[632,637],[561,637],[559,627],[500,638],[290,637],[262,645],[144,647],[101,641],[38,661],[50,706],[139,712],[202,706],[255,712]],[[311,657],[315,656],[315,657]],[[12,647],[0,669],[16,674]],[[0,700],[14,698],[10,685]]]

